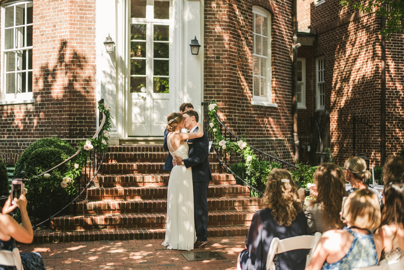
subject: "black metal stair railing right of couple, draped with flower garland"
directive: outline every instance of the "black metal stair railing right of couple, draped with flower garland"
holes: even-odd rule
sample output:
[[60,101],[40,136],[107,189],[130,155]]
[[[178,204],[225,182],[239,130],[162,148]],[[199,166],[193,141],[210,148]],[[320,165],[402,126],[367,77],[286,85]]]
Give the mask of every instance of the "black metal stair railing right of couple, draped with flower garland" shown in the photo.
[[[209,123],[210,123],[210,118],[209,118],[209,104],[211,104],[211,101],[207,101],[207,102],[203,102],[202,103],[202,110],[204,113],[204,123],[203,123],[203,127],[204,130],[207,132],[208,134],[208,138],[209,141],[214,141],[214,133],[212,131],[210,131],[210,127],[209,127]],[[220,119],[219,115],[216,114],[216,119],[219,122],[219,128],[220,131],[222,133],[222,135],[224,136],[226,141],[230,141],[230,142],[237,142],[240,141],[241,138],[238,137],[236,134],[234,134]],[[269,161],[269,166],[270,169],[272,170],[272,163],[278,163],[280,164],[280,166],[282,168],[287,168],[287,169],[294,169],[296,168],[295,165],[290,164],[286,161],[283,161],[279,158],[276,158],[268,153],[265,153],[251,145],[249,145],[250,148],[254,151],[254,154],[257,156],[259,161]],[[242,183],[244,183],[244,185],[249,186],[251,189],[255,190],[256,192],[263,194],[261,192],[262,187],[260,185],[263,185],[261,182],[257,183],[257,187],[258,189],[252,187],[251,184],[247,183],[245,180],[245,176],[244,176],[244,165],[245,165],[245,161],[244,158],[240,155],[240,153],[231,151],[231,150],[227,150],[224,151],[222,148],[216,149],[215,147],[213,147],[214,149],[214,153],[217,157],[217,159],[219,160],[219,163],[221,166],[219,166],[219,173],[222,173],[222,166],[230,173],[232,173],[234,175],[234,177],[236,177],[236,179],[238,179],[239,181],[241,181]],[[239,168],[241,164],[241,168]]]

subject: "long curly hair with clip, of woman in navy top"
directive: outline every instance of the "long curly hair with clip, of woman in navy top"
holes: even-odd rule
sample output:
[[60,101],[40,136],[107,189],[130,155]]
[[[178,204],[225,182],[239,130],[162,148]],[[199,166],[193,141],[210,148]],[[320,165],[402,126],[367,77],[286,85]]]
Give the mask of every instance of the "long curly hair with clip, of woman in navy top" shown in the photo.
[[[282,182],[287,179],[289,182]],[[284,180],[285,181],[285,180]],[[302,210],[301,201],[297,195],[297,186],[292,176],[285,169],[272,169],[267,179],[267,188],[262,199],[264,207],[272,210],[274,219],[279,226],[290,226]]]

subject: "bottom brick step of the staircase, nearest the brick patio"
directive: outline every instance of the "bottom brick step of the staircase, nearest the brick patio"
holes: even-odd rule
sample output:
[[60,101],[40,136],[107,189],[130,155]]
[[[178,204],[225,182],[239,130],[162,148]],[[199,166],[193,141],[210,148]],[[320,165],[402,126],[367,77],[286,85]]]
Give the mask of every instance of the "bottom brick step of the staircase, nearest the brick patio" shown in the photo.
[[[243,236],[248,232],[248,226],[208,227],[208,237],[215,236]],[[118,229],[118,230],[90,230],[74,232],[34,231],[33,243],[61,243],[78,241],[103,240],[136,240],[136,239],[164,239],[166,229]],[[163,243],[163,240],[161,240]],[[208,239],[209,243],[209,239]],[[164,248],[164,247],[162,247]]]

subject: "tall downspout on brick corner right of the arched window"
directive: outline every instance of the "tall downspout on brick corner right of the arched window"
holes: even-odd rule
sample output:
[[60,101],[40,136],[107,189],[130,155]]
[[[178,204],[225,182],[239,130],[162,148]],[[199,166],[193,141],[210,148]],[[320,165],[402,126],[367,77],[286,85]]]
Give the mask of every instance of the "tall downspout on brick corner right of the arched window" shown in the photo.
[[293,67],[292,67],[292,119],[293,119],[293,140],[294,140],[294,162],[299,159],[299,139],[297,136],[297,48],[300,44],[297,43],[297,0],[292,0],[292,23],[293,23]]

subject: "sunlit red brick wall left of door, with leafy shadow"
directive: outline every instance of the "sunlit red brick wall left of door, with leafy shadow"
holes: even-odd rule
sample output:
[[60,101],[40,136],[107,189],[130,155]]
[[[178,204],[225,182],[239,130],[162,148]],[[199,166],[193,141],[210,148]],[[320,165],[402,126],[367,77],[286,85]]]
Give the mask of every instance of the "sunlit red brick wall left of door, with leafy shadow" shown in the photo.
[[40,138],[94,134],[95,2],[33,2],[35,102],[0,106],[0,154],[22,153]]

